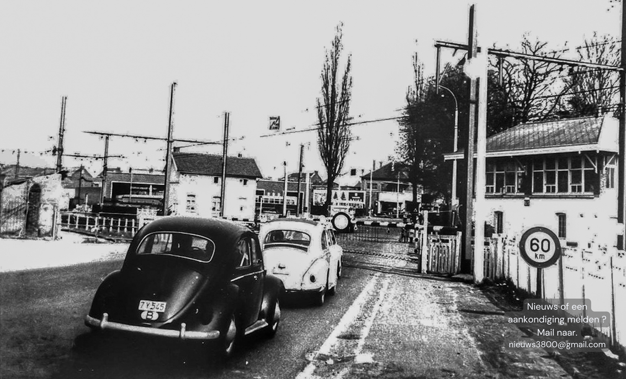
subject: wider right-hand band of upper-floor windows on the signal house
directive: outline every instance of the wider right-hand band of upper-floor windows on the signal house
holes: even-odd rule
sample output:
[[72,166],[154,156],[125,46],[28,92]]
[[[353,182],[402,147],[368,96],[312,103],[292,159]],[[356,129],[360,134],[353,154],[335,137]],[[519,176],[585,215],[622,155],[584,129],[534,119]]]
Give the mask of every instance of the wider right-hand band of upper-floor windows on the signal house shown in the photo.
[[533,160],[533,192],[582,194],[595,190],[595,168],[585,156]]

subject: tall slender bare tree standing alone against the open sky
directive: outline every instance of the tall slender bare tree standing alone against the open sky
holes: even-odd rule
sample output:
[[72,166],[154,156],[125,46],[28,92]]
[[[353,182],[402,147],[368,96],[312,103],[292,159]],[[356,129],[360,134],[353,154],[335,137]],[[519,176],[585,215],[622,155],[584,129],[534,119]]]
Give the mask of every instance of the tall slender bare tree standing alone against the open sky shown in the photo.
[[337,82],[339,60],[343,51],[342,26],[343,24],[337,26],[331,49],[326,50],[321,74],[322,98],[317,98],[317,120],[319,121],[317,149],[326,167],[328,178],[324,203],[324,209],[327,212],[329,212],[329,205],[332,204],[332,185],[343,169],[351,140],[351,130],[347,125],[352,94],[351,55],[347,57],[341,83]]

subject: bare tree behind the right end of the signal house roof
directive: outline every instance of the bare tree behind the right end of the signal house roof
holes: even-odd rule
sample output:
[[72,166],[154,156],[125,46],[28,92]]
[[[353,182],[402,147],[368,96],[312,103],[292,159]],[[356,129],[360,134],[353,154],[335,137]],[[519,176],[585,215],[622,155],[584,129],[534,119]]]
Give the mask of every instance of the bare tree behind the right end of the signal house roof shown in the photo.
[[[615,37],[593,33],[585,44],[577,48],[581,61],[619,66],[620,46]],[[619,75],[617,71],[575,68],[565,79],[572,87],[573,95],[568,99],[573,116],[598,115],[615,110],[613,101],[618,98]]]

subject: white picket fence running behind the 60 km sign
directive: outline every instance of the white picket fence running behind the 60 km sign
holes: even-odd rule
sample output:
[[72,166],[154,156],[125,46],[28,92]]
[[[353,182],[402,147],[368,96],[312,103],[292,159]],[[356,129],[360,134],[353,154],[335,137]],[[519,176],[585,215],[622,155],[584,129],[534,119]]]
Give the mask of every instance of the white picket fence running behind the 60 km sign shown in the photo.
[[[565,242],[563,241],[563,245]],[[491,239],[485,246],[485,278],[508,279],[517,288],[535,298],[555,303],[565,299],[590,299],[593,311],[608,311],[610,323],[592,324],[610,343],[626,352],[626,257],[610,247],[586,248],[564,246],[557,264],[542,269],[520,256],[518,241],[506,237]],[[541,293],[537,293],[537,280]]]

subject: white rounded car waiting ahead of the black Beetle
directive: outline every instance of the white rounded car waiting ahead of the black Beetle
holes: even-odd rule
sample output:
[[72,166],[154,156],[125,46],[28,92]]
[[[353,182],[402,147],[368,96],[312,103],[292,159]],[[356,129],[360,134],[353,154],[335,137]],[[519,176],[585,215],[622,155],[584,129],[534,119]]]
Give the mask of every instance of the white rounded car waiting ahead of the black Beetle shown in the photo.
[[262,224],[259,241],[265,267],[282,280],[285,293],[313,294],[318,305],[335,294],[343,249],[326,219],[274,219]]

